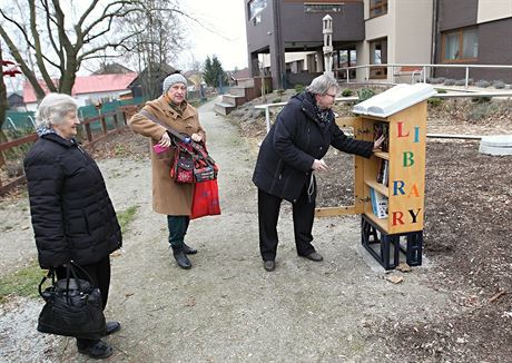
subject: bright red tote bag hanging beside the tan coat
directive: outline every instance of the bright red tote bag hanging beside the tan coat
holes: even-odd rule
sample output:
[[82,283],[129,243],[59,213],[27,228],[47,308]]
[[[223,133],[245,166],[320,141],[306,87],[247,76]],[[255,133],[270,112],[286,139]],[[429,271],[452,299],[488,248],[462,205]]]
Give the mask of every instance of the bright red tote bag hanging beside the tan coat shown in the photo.
[[190,219],[220,214],[217,179],[194,184]]

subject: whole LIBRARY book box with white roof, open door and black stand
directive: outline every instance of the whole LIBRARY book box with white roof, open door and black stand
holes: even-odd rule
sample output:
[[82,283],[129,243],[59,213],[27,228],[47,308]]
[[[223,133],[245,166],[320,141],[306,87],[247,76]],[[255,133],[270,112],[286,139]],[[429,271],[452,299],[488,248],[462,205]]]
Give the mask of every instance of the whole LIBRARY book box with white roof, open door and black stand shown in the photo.
[[[354,206],[316,215],[361,214],[362,244],[386,269],[398,265],[401,251],[410,266],[422,264],[426,99],[435,94],[431,85],[398,85],[354,106],[357,117],[336,120],[352,126],[356,139],[374,141],[386,130],[387,145],[370,159],[355,156]],[[387,215],[378,209],[382,199]]]

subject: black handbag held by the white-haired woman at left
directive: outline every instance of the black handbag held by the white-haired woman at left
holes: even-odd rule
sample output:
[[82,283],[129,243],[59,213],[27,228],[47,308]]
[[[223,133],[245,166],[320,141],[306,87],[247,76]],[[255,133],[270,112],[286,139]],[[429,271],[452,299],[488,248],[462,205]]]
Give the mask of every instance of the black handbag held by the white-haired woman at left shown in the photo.
[[[38,331],[41,333],[99,340],[106,331],[101,293],[89,281],[77,277],[77,264],[67,265],[66,278],[56,281],[53,269],[41,279],[39,294],[46,304],[39,314]],[[42,284],[51,278],[51,286],[42,291]]]

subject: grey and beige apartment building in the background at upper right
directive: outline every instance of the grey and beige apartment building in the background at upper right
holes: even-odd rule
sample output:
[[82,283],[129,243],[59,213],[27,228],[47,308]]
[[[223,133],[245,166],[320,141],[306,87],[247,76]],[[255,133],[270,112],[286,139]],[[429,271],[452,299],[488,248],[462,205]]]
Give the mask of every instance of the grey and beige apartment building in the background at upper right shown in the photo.
[[[375,65],[352,70],[351,79],[411,79],[412,69],[381,63],[512,65],[511,0],[245,1],[250,73],[269,66],[274,88],[304,85],[324,71],[322,18],[327,13],[335,70]],[[298,52],[306,56],[301,59]],[[463,68],[427,71],[429,77],[465,77]],[[470,77],[512,82],[510,69],[472,69]]]

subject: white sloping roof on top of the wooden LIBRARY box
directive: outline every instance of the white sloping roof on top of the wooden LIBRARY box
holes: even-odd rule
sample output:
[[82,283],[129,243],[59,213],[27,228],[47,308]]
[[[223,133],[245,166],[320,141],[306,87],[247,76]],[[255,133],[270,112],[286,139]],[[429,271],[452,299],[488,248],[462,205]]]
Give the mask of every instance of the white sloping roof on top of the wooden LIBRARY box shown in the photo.
[[432,85],[401,84],[355,105],[352,111],[354,114],[387,117],[406,109],[407,107],[416,105],[436,94],[437,92]]

